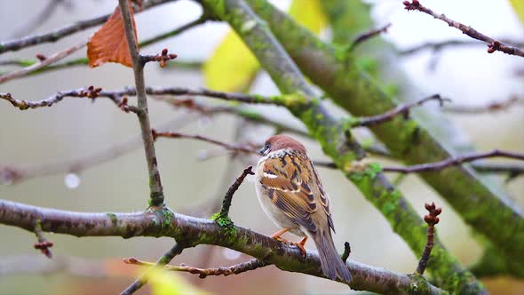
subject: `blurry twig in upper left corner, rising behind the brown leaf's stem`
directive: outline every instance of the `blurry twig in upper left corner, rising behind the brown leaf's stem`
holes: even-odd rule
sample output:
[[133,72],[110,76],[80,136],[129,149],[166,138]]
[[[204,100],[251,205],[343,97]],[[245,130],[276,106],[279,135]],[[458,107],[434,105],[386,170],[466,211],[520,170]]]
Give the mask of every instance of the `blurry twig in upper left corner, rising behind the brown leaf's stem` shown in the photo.
[[[146,11],[147,9],[155,7],[159,4],[164,4],[167,2],[171,2],[171,1],[173,0],[147,1],[146,3],[142,5],[143,9],[139,12]],[[109,16],[111,16],[111,14],[102,15],[96,18],[92,18],[90,20],[80,20],[64,28],[59,28],[59,29],[53,30],[51,32],[48,32],[42,35],[26,36],[21,39],[16,39],[16,40],[2,43],[0,44],[0,54],[4,52],[18,51],[20,49],[23,49],[29,46],[34,46],[36,44],[56,42],[65,36],[75,34],[87,28],[98,26],[104,23],[109,18]]]

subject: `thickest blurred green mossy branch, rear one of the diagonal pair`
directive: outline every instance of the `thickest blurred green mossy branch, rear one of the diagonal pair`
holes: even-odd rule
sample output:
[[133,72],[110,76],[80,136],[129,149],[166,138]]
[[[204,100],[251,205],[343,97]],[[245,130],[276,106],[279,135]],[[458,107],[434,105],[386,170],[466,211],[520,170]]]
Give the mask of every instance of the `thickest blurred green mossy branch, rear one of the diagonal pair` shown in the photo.
[[[354,116],[374,116],[396,108],[388,96],[361,70],[351,52],[323,44],[306,28],[264,0],[247,0],[266,20],[274,36],[298,67],[342,108]],[[392,154],[405,163],[432,163],[453,155],[417,119],[395,117],[371,127]],[[509,259],[524,265],[524,217],[504,195],[488,186],[468,166],[427,172],[422,178],[437,190],[464,221],[488,237]],[[512,230],[500,230],[500,225]]]

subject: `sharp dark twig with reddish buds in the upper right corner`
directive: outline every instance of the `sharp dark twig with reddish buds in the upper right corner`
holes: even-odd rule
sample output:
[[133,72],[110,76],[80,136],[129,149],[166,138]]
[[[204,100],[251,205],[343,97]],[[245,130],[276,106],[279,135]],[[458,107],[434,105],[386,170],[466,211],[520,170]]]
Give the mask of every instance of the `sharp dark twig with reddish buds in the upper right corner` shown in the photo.
[[429,14],[431,16],[433,16],[433,18],[437,19],[437,20],[442,20],[444,22],[446,22],[449,27],[453,27],[453,28],[457,28],[459,30],[462,31],[462,33],[464,33],[465,35],[467,36],[471,36],[473,39],[476,39],[476,40],[480,40],[480,41],[483,41],[485,43],[488,44],[488,53],[493,53],[493,52],[496,52],[496,51],[499,51],[499,52],[504,52],[506,54],[510,54],[510,55],[517,55],[517,56],[520,56],[520,57],[524,57],[524,51],[517,48],[517,47],[513,47],[513,46],[510,46],[510,45],[507,45],[507,44],[504,44],[500,41],[497,41],[489,36],[485,36],[483,35],[482,33],[480,33],[479,31],[477,31],[476,29],[470,27],[470,26],[465,26],[464,24],[460,23],[460,22],[457,22],[455,20],[451,20],[449,19],[448,17],[446,17],[444,14],[438,14],[436,12],[433,12],[431,9],[423,6],[422,4],[420,4],[420,1],[418,0],[413,0],[411,2],[409,1],[404,1],[403,2],[404,4],[404,8],[408,11],[419,11],[419,12],[425,12],[426,14]]

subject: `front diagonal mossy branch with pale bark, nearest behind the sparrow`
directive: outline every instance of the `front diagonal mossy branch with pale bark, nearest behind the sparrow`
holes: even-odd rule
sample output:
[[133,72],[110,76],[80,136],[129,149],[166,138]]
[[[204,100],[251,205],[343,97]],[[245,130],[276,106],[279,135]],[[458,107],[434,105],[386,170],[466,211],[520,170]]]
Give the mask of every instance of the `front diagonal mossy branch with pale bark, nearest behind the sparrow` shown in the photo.
[[[314,92],[306,84],[304,76],[267,28],[266,24],[273,27],[274,20],[267,20],[267,23],[260,21],[258,16],[240,0],[221,2],[208,0],[202,1],[202,4],[206,12],[226,20],[234,28],[282,93],[292,94],[294,97],[304,96],[303,100],[306,103],[298,105],[284,103],[284,106],[306,124],[314,140],[321,143],[326,155],[329,155],[337,167],[345,171],[346,177],[351,179],[362,194],[377,206],[390,222],[393,230],[409,243],[413,251],[422,252],[425,247],[424,221],[376,166],[364,164],[363,170],[352,169],[358,166],[358,163],[365,162],[366,154],[363,148],[353,138],[347,120],[337,120],[326,108],[323,108],[321,101],[314,97]],[[435,241],[433,254],[429,269],[444,288],[471,294],[484,291],[474,276],[464,269],[438,240]]]

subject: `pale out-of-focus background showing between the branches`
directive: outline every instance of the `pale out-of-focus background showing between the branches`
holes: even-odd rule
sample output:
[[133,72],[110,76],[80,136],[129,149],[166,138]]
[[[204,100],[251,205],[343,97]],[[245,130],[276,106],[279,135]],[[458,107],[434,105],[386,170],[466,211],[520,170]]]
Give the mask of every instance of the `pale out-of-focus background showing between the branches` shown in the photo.
[[[76,20],[113,12],[116,1],[62,1],[49,17],[30,32],[24,32],[29,20],[37,17],[48,1],[14,1],[0,4],[0,40],[25,34],[44,33],[66,26]],[[356,1],[356,0],[348,0]],[[286,10],[290,1],[272,1]],[[523,27],[507,1],[425,0],[435,12],[471,25],[493,37],[522,42]],[[406,12],[401,1],[369,2],[376,26],[391,22],[383,35],[398,51],[425,42],[469,40],[454,28],[433,20],[420,12]],[[474,7],[474,9],[472,9]],[[155,36],[197,19],[202,10],[192,1],[176,1],[139,13],[136,16],[139,40]],[[6,52],[0,60],[31,60],[38,53],[45,56],[85,40],[96,30],[91,28],[63,38],[56,44],[41,44],[20,52]],[[207,22],[182,35],[148,46],[142,53],[156,54],[163,48],[179,55],[179,62],[205,62],[226,36],[226,24]],[[329,40],[329,28],[322,30]],[[71,59],[84,57],[85,49]],[[392,60],[390,60],[391,62]],[[524,62],[521,58],[500,52],[486,53],[484,45],[449,47],[440,52],[421,51],[395,56],[393,62],[404,69],[406,84],[413,99],[441,93],[457,105],[483,106],[492,101],[524,96]],[[378,65],[379,67],[381,65]],[[1,66],[0,72],[16,69]],[[147,84],[151,86],[183,86],[197,89],[206,83],[199,68],[172,66],[146,67]],[[89,85],[105,90],[122,89],[133,84],[132,72],[117,64],[99,68],[75,67],[28,76],[0,84],[0,92],[11,92],[19,100],[43,100],[55,92]],[[385,83],[386,84],[386,83]],[[411,87],[411,86],[409,86]],[[265,73],[253,81],[250,92],[275,94],[278,90]],[[134,103],[134,98],[131,99]],[[424,108],[433,108],[427,105]],[[436,108],[436,107],[435,107]],[[303,128],[287,111],[280,108],[257,107],[286,124]],[[441,110],[436,109],[441,112]],[[207,135],[227,142],[261,145],[274,130],[248,124],[231,115],[201,116],[184,109],[175,109],[161,101],[149,100],[152,124],[163,131]],[[522,105],[477,115],[447,114],[461,131],[459,139],[470,142],[478,150],[494,148],[524,152],[524,108]],[[0,185],[0,198],[32,205],[71,211],[141,211],[147,206],[147,168],[139,136],[139,124],[132,114],[115,108],[112,102],[99,99],[94,103],[82,99],[66,99],[52,108],[19,111],[7,101],[0,101],[0,167],[20,169],[39,167],[44,163],[62,163],[90,155],[99,155],[115,146],[129,149],[108,161],[78,173],[59,173],[27,179],[20,183]],[[366,132],[362,132],[366,136]],[[326,160],[317,143],[299,138],[315,160]],[[257,156],[227,155],[220,148],[195,140],[159,140],[156,144],[166,203],[174,211],[209,217],[227,187],[248,164],[256,164]],[[380,160],[382,161],[382,160]],[[390,163],[391,164],[391,163]],[[398,163],[397,163],[398,164]],[[333,205],[337,227],[335,242],[340,251],[345,241],[352,245],[350,259],[393,271],[410,273],[417,267],[415,255],[403,240],[393,234],[382,215],[368,203],[338,171],[319,168],[324,187]],[[396,175],[391,175],[392,179]],[[5,179],[4,179],[5,180]],[[493,179],[502,184],[513,202],[524,206],[524,177],[504,183],[504,175]],[[7,181],[8,182],[8,181]],[[442,207],[438,231],[441,241],[465,266],[472,266],[482,250],[470,229],[431,187],[416,175],[400,183],[421,216],[424,203],[435,202]],[[248,178],[234,195],[231,210],[234,222],[260,233],[271,235],[277,228],[266,218],[258,205],[252,179]],[[156,260],[169,250],[169,238],[116,237],[75,238],[67,235],[46,235],[54,243],[55,255],[50,262],[33,249],[35,235],[19,228],[0,225],[0,293],[1,294],[114,294],[119,293],[139,275],[136,267],[123,265],[121,259],[137,257]],[[291,236],[290,236],[291,237]],[[291,238],[292,239],[292,238]],[[307,248],[314,248],[307,243]],[[523,254],[524,255],[524,254]],[[195,267],[229,266],[250,259],[244,254],[210,246],[188,249],[172,263]],[[347,294],[342,284],[328,280],[282,272],[264,267],[242,275],[208,277],[176,274],[186,283],[210,294]],[[488,290],[498,294],[522,294],[524,283],[508,277],[483,280]],[[149,287],[138,294],[147,294]]]

